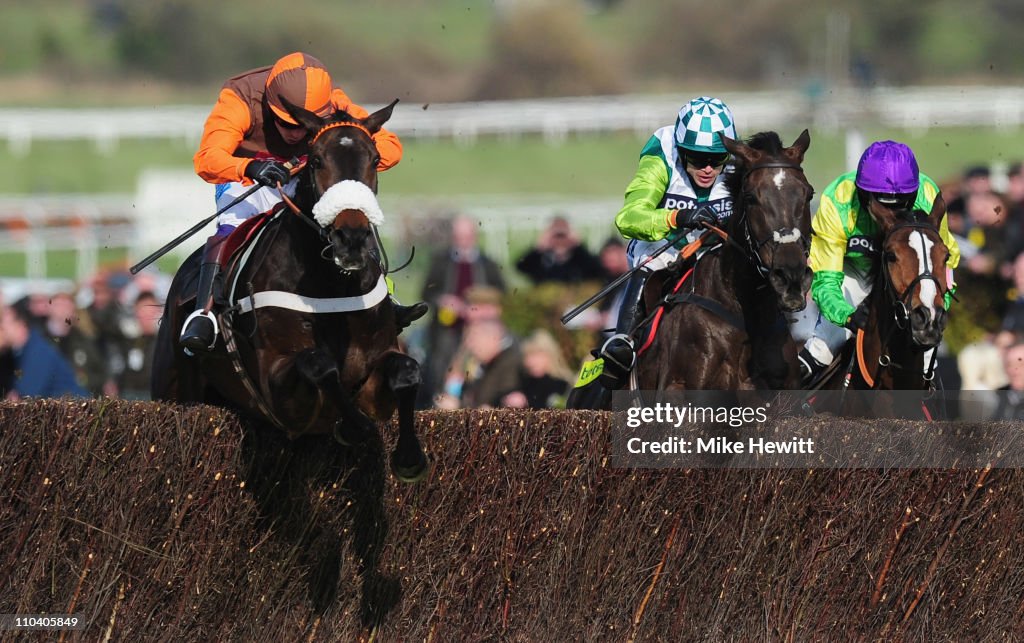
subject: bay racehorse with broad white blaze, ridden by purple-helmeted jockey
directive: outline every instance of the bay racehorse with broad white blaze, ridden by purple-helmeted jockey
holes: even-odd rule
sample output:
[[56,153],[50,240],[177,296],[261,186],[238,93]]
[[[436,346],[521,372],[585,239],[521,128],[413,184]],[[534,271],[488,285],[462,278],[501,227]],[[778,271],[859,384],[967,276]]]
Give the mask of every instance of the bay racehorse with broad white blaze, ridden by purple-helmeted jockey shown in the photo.
[[[932,211],[892,211],[873,200],[868,212],[882,234],[879,267],[867,295],[867,323],[844,348],[821,388],[927,390],[933,386],[935,351],[948,315],[946,261],[939,235],[945,204]],[[839,367],[846,367],[846,369]]]

